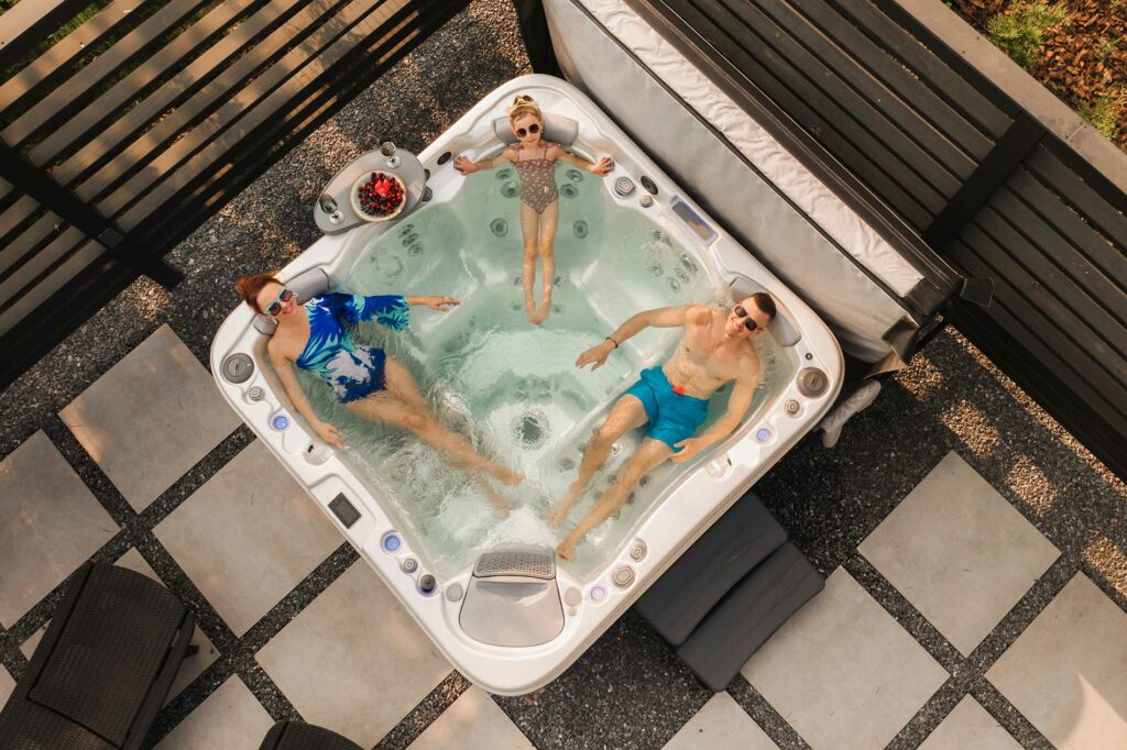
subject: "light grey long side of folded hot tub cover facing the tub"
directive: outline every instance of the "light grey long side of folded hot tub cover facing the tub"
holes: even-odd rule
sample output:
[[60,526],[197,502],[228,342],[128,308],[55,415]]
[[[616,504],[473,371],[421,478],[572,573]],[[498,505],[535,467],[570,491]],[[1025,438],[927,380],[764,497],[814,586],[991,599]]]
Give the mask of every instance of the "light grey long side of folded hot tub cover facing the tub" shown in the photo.
[[579,0],[544,0],[544,10],[568,81],[600,104],[671,177],[692,186],[698,203],[814,307],[845,351],[870,363],[887,356],[882,337],[906,314],[900,300],[735,155],[588,17]]

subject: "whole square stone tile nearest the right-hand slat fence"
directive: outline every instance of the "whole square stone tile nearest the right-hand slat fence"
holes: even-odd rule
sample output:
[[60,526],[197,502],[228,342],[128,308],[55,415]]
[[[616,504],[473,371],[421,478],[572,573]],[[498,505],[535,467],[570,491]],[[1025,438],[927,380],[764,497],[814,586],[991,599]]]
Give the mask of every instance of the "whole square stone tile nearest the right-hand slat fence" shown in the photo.
[[1061,554],[955,452],[858,550],[964,655]]

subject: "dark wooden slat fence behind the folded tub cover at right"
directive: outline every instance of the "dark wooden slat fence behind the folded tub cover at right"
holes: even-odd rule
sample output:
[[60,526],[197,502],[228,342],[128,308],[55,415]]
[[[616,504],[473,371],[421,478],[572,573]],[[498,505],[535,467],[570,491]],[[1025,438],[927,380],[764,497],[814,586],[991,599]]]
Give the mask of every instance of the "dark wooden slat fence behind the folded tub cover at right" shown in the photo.
[[889,241],[993,279],[949,314],[1127,476],[1127,196],[1101,166],[895,0],[628,2]]

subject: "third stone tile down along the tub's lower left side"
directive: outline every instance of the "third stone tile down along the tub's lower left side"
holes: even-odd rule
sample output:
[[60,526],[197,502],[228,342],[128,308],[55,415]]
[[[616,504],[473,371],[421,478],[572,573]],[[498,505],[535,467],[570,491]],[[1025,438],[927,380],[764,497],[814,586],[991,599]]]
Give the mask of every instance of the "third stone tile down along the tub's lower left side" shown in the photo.
[[257,659],[305,721],[365,748],[450,673],[364,561],[353,563]]

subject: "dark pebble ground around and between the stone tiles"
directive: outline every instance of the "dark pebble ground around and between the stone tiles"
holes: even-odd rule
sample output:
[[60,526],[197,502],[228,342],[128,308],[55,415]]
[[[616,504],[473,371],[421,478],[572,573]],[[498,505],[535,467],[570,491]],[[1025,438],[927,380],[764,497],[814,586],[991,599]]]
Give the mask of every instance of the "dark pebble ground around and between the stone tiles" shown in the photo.
[[[281,267],[317,239],[311,206],[339,167],[387,139],[421,150],[485,93],[527,72],[512,5],[474,0],[180,243],[168,258],[186,276],[176,289],[135,282],[0,392],[0,456],[43,429],[122,525],[95,559],[113,561],[137,546],[166,584],[193,606],[221,652],[161,714],[154,738],[232,675],[275,718],[296,716],[254,653],[344,570],[363,563],[341,544],[246,635],[236,637],[151,529],[246,447],[250,431],[236,430],[139,515],[57,419],[59,410],[163,323],[206,366],[212,337],[238,303],[232,279]],[[1062,552],[969,658],[857,552],[952,449]],[[836,447],[824,448],[816,435],[809,436],[756,491],[819,571],[844,566],[951,673],[893,747],[917,747],[968,693],[1024,747],[1048,747],[983,675],[1077,571],[1127,610],[1127,486],[956,332],[937,336],[909,368],[887,382],[872,407],[846,426]],[[18,645],[50,618],[63,588],[18,623],[0,628],[0,662],[14,676],[26,667]],[[467,687],[452,673],[379,747],[408,745]],[[780,747],[806,747],[742,677],[728,691]],[[659,748],[709,696],[630,613],[547,688],[497,703],[541,750],[625,749]]]

